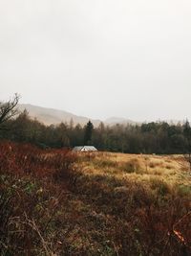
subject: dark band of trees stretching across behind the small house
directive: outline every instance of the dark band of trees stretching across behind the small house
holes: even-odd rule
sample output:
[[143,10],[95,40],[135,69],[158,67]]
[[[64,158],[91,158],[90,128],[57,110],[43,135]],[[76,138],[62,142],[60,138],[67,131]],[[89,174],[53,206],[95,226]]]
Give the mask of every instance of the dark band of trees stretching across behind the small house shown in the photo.
[[[74,126],[71,120],[70,124],[45,126],[36,119],[32,120],[27,110],[15,116],[14,107],[17,103],[18,98],[6,104],[0,103],[1,139],[32,143],[41,148],[94,145],[100,151],[129,153],[167,154],[191,151],[191,128],[188,121],[184,124],[152,122],[114,126],[100,123],[94,128],[90,121],[82,127],[79,124]],[[3,110],[7,114],[2,117]]]

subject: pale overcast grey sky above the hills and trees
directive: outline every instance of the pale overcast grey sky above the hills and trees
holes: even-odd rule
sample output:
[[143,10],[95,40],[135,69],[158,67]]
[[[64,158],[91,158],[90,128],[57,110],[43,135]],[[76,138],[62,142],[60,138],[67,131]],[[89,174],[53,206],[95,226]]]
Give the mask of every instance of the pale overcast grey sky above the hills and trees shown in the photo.
[[0,93],[104,119],[191,120],[190,0],[0,0]]

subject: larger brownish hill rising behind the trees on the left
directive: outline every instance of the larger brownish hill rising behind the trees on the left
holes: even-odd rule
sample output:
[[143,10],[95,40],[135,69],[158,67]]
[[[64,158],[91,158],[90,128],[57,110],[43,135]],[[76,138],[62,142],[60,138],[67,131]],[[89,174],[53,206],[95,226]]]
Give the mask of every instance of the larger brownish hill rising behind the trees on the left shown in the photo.
[[73,119],[74,125],[80,124],[82,126],[86,125],[89,120],[94,124],[94,126],[98,126],[101,122],[100,120],[94,120],[91,118],[83,117],[83,116],[77,116],[73,113],[64,111],[64,110],[58,110],[53,108],[46,108],[42,106],[37,105],[18,105],[18,109],[20,111],[23,111],[24,109],[27,109],[29,112],[29,115],[31,118],[36,118],[38,121],[44,123],[45,125],[57,125],[61,122],[67,122],[68,124]]

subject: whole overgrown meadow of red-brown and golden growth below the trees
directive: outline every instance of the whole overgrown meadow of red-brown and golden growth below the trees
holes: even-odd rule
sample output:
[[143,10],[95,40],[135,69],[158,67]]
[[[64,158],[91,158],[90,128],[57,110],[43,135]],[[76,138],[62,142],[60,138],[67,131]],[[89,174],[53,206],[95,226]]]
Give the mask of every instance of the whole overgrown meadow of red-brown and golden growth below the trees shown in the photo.
[[190,255],[181,155],[0,143],[0,254]]

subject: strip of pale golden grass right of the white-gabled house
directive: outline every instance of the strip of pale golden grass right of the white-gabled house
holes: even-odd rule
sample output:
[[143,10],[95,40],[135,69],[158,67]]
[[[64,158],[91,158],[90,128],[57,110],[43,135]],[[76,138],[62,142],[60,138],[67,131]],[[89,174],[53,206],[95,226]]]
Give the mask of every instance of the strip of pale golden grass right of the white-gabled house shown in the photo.
[[118,180],[150,182],[158,178],[169,185],[189,185],[180,155],[145,155],[112,152],[80,153],[78,167],[85,175],[115,175]]

